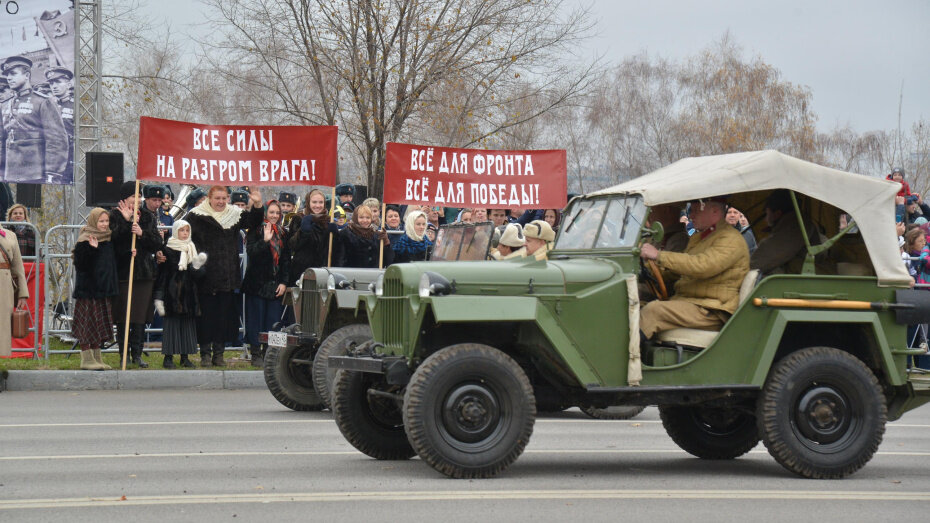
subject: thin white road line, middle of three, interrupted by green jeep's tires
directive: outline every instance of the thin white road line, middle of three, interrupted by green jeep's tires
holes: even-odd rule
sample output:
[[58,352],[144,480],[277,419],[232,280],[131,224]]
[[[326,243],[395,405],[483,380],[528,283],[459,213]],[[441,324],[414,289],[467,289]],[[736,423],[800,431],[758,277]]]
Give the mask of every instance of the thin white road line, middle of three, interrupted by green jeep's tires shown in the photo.
[[[681,449],[527,449],[524,454],[571,455],[571,454],[687,454]],[[749,451],[749,454],[768,454],[764,449]],[[305,450],[305,451],[230,451],[230,452],[164,452],[133,454],[64,454],[44,456],[0,456],[0,461],[45,461],[63,459],[127,459],[127,458],[193,458],[226,456],[356,456],[356,450]],[[878,456],[928,457],[930,451],[878,451]]]

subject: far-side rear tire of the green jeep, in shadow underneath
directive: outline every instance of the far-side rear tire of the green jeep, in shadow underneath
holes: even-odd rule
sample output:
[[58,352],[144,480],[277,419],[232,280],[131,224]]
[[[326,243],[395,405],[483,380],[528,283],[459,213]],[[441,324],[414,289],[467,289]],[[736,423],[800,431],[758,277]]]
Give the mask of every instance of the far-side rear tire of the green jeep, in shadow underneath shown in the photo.
[[682,450],[701,459],[734,459],[759,443],[756,418],[735,408],[659,406],[662,426]]

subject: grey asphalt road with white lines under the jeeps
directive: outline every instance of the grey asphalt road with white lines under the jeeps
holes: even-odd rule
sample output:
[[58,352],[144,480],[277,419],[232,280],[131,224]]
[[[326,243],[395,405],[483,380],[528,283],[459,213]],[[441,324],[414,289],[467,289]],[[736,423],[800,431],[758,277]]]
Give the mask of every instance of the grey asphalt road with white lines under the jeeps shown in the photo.
[[264,390],[4,392],[0,521],[878,521],[930,509],[930,407],[888,424],[845,480],[799,479],[759,445],[692,458],[658,412],[540,417],[501,477],[451,480],[354,451],[329,413]]

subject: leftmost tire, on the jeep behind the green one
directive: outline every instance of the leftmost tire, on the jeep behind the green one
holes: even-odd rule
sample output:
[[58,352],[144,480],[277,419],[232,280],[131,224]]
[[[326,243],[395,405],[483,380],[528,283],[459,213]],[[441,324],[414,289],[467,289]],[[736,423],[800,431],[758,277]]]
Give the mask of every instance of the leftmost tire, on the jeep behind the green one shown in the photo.
[[310,347],[268,347],[265,352],[265,385],[282,405],[298,411],[322,410],[323,402],[313,388],[310,365],[292,360],[309,361]]

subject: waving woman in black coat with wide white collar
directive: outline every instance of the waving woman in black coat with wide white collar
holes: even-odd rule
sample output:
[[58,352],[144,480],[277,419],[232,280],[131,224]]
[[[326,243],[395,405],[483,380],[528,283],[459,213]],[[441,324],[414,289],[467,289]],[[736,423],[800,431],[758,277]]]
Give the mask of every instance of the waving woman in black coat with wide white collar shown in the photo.
[[185,217],[191,224],[197,248],[207,253],[206,275],[198,284],[202,311],[197,323],[201,367],[225,366],[225,345],[239,337],[239,300],[234,292],[242,281],[239,231],[258,227],[264,219],[261,193],[253,190],[250,200],[251,211],[229,205],[226,188],[214,185],[207,199]]

